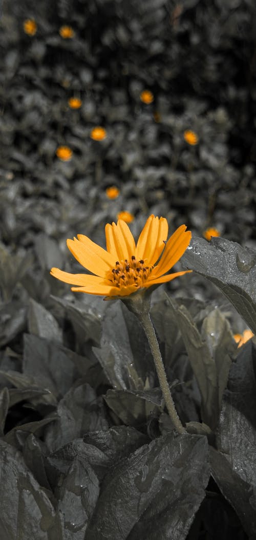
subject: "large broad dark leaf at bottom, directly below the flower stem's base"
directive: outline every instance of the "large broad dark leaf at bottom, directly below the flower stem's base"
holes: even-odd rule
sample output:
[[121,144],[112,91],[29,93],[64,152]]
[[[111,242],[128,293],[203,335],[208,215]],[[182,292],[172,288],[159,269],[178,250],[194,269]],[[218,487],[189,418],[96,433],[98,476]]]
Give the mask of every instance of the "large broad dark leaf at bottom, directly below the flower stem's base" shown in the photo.
[[183,540],[209,480],[207,441],[163,436],[112,468],[85,539]]

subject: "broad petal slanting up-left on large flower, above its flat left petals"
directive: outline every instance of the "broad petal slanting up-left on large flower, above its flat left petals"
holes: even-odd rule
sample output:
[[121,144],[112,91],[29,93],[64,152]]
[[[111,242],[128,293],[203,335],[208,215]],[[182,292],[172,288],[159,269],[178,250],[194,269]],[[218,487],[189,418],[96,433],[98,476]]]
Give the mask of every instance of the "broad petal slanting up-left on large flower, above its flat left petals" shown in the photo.
[[76,238],[74,240],[68,239],[67,247],[82,266],[102,278],[105,277],[106,272],[113,268],[113,265],[102,259],[99,255],[99,246],[91,240],[85,243]]

